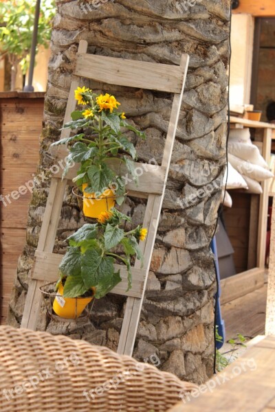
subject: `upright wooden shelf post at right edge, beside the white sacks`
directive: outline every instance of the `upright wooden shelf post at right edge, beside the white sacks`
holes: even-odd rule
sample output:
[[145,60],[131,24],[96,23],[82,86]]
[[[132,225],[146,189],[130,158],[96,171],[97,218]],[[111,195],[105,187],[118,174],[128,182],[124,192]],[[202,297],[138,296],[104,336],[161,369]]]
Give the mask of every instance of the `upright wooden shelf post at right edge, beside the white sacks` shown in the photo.
[[[263,158],[270,163],[272,130],[266,128],[263,136]],[[267,236],[267,210],[268,210],[268,192],[270,182],[268,180],[262,183],[263,193],[260,195],[259,206],[259,227],[258,227],[258,248],[257,248],[257,266],[265,267],[265,250]]]

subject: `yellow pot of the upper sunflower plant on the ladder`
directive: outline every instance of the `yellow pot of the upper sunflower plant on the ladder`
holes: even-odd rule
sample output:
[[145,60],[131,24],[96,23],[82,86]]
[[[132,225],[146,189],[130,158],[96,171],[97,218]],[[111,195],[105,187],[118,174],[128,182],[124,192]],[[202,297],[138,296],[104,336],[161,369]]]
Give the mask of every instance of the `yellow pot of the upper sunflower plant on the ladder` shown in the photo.
[[83,213],[87,218],[98,218],[102,211],[108,211],[115,205],[115,196],[108,189],[98,198],[95,198],[94,193],[85,192],[87,183],[83,185]]

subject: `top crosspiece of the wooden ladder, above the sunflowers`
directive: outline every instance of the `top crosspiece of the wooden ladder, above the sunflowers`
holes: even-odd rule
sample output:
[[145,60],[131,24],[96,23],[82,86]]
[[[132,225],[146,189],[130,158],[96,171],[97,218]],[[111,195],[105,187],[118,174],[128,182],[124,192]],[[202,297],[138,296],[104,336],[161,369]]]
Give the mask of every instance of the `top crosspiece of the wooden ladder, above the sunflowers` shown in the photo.
[[[186,64],[187,56],[183,59]],[[181,67],[175,65],[94,54],[77,55],[75,74],[109,84],[171,93],[181,92],[184,76]]]

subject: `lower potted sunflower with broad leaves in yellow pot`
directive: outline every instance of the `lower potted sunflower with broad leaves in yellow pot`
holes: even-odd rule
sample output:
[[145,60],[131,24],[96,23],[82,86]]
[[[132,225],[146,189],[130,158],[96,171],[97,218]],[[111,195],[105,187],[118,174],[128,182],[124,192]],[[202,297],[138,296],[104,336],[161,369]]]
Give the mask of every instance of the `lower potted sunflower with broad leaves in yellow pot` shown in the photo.
[[[121,282],[115,263],[126,266],[131,289],[131,258],[142,260],[138,242],[145,240],[147,229],[137,226],[122,229],[131,218],[117,209],[103,211],[95,224],[85,224],[67,238],[69,247],[59,265],[54,312],[75,319],[92,299],[100,299]],[[126,290],[126,291],[127,291]]]

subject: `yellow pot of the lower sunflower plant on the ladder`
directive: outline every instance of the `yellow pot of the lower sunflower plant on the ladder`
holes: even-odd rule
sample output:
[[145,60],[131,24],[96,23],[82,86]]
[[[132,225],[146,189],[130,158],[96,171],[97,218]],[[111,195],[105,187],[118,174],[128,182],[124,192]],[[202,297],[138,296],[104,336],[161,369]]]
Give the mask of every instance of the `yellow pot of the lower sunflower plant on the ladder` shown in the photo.
[[94,299],[96,289],[92,288],[93,296],[91,297],[63,297],[63,284],[59,284],[58,293],[61,297],[54,299],[52,308],[58,316],[65,319],[76,319],[80,317],[80,314],[86,308],[87,304]]

